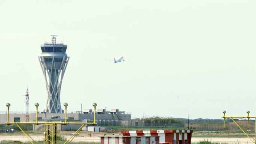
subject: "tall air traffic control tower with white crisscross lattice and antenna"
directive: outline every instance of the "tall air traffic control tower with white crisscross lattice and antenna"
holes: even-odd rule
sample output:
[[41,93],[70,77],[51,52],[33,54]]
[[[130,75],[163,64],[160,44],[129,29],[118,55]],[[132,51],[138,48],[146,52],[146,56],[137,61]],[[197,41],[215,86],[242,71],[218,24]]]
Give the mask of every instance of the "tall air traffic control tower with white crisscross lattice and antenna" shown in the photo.
[[47,102],[44,112],[63,113],[60,102],[61,83],[67,68],[69,57],[66,54],[67,45],[56,43],[56,35],[51,43],[41,45],[42,54],[38,57],[45,77]]

